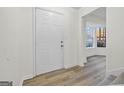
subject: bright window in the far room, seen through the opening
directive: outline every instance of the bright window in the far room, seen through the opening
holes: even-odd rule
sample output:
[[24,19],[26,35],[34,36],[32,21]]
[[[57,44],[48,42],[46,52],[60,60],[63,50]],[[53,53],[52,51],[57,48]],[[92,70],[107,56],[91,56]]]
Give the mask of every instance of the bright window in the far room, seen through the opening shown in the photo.
[[86,47],[106,47],[106,28],[100,24],[86,24]]

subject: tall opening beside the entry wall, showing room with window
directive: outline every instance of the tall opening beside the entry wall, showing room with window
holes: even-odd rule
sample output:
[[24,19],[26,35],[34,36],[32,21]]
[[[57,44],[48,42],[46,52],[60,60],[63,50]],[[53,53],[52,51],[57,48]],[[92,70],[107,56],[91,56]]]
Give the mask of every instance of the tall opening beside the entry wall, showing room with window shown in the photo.
[[95,68],[99,77],[104,79],[106,74],[106,8],[98,8],[83,16],[82,22],[85,66],[90,65],[91,68]]

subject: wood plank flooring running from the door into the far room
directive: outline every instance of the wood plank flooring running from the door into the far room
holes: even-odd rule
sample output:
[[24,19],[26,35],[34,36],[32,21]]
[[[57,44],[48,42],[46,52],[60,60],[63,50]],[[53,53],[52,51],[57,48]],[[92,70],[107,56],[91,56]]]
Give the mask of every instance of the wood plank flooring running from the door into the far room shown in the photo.
[[24,86],[95,86],[105,77],[105,56],[92,56],[84,67],[61,69],[25,80]]

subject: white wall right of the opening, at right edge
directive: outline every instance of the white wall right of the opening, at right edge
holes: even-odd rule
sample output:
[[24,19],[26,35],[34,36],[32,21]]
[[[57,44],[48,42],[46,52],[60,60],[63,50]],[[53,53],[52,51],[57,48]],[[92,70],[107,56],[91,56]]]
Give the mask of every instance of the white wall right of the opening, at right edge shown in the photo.
[[107,72],[124,69],[124,8],[107,8]]

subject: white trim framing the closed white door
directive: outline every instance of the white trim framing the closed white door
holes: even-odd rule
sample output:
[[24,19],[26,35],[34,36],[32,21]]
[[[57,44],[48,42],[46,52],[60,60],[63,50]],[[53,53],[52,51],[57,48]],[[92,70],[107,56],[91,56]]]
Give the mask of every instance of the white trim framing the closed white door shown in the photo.
[[[32,8],[32,38],[33,38],[33,77],[36,76],[36,9],[41,9],[41,10],[45,10],[45,11],[50,11],[50,12],[54,12],[54,13],[58,13],[58,14],[61,14],[61,15],[64,15],[63,13],[60,13],[60,12],[56,12],[56,11],[53,11],[53,10],[48,10],[48,9],[45,9],[45,8],[39,8],[39,7],[33,7]],[[64,35],[64,31],[63,31],[63,35]],[[64,38],[64,36],[63,36]],[[64,41],[64,39],[63,39]],[[65,46],[65,43],[64,43],[64,46]],[[65,68],[65,62],[64,62],[64,49],[63,49],[63,67]]]

